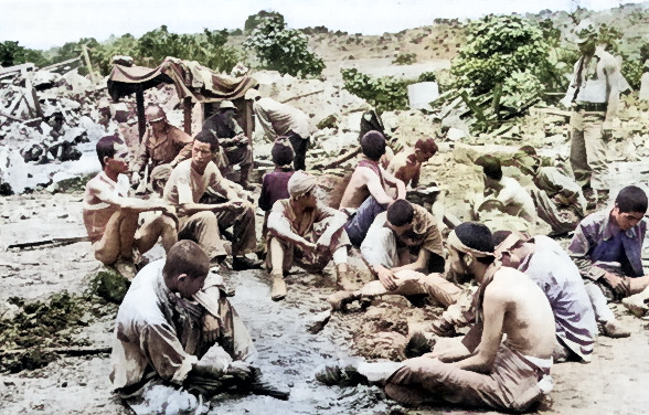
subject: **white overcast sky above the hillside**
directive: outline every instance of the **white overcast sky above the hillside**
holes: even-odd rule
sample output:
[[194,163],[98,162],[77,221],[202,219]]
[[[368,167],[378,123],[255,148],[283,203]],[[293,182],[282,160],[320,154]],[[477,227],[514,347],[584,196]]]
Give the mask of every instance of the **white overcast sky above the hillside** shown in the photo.
[[437,18],[489,13],[617,8],[636,0],[0,0],[0,42],[50,49],[81,38],[143,33],[166,24],[174,33],[243,29],[259,10],[284,14],[289,28],[324,25],[349,33],[383,34],[433,24]]

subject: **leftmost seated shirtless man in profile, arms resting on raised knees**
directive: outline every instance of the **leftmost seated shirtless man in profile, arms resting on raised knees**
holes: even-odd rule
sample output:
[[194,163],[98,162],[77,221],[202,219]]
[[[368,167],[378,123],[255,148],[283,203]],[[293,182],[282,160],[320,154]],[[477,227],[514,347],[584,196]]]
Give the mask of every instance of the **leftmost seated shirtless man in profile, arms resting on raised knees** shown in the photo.
[[[97,141],[97,157],[102,172],[86,184],[83,215],[95,258],[114,265],[126,278],[136,274],[134,262],[139,254],[151,249],[161,238],[164,251],[175,243],[174,209],[161,202],[129,198],[128,163],[130,152],[116,136]],[[161,211],[163,214],[146,221],[138,230],[141,212]]]

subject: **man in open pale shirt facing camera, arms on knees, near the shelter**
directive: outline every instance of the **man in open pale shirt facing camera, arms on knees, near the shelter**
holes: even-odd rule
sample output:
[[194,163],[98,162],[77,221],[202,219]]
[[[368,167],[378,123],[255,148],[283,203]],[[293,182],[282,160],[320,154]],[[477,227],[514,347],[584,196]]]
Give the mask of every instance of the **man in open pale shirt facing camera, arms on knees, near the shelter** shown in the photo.
[[[232,267],[235,270],[258,266],[244,255],[255,249],[255,211],[251,202],[240,198],[235,184],[224,179],[212,161],[219,143],[211,132],[199,132],[192,145],[192,158],[180,162],[164,187],[164,200],[178,208],[179,240],[196,242],[213,265],[221,264],[227,245],[220,232],[233,227]],[[225,203],[200,203],[206,191],[222,194]]]

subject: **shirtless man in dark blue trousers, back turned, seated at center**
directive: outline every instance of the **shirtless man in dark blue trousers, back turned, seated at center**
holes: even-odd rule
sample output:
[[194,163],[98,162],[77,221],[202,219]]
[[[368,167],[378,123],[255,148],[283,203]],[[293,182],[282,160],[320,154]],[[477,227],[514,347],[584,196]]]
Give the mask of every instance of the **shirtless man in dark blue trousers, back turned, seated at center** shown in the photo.
[[379,163],[385,153],[385,137],[379,131],[369,131],[361,138],[363,158],[354,170],[340,201],[340,210],[358,209],[350,216],[344,230],[353,246],[360,246],[374,217],[384,212],[394,199],[387,187],[396,188],[396,199],[404,199],[405,184]]

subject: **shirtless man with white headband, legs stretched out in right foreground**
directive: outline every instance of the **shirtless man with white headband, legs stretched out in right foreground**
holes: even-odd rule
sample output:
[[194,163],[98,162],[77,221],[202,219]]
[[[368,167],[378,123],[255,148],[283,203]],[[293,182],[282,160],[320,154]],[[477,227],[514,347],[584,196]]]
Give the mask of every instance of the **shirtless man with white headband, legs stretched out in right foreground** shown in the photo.
[[[521,272],[501,267],[487,226],[464,223],[448,237],[451,268],[472,275],[476,326],[461,344],[401,363],[361,361],[326,368],[327,384],[358,373],[387,396],[412,405],[440,402],[524,412],[552,390],[554,316],[543,291]],[[507,340],[503,340],[507,334]],[[344,373],[343,373],[344,371]]]

